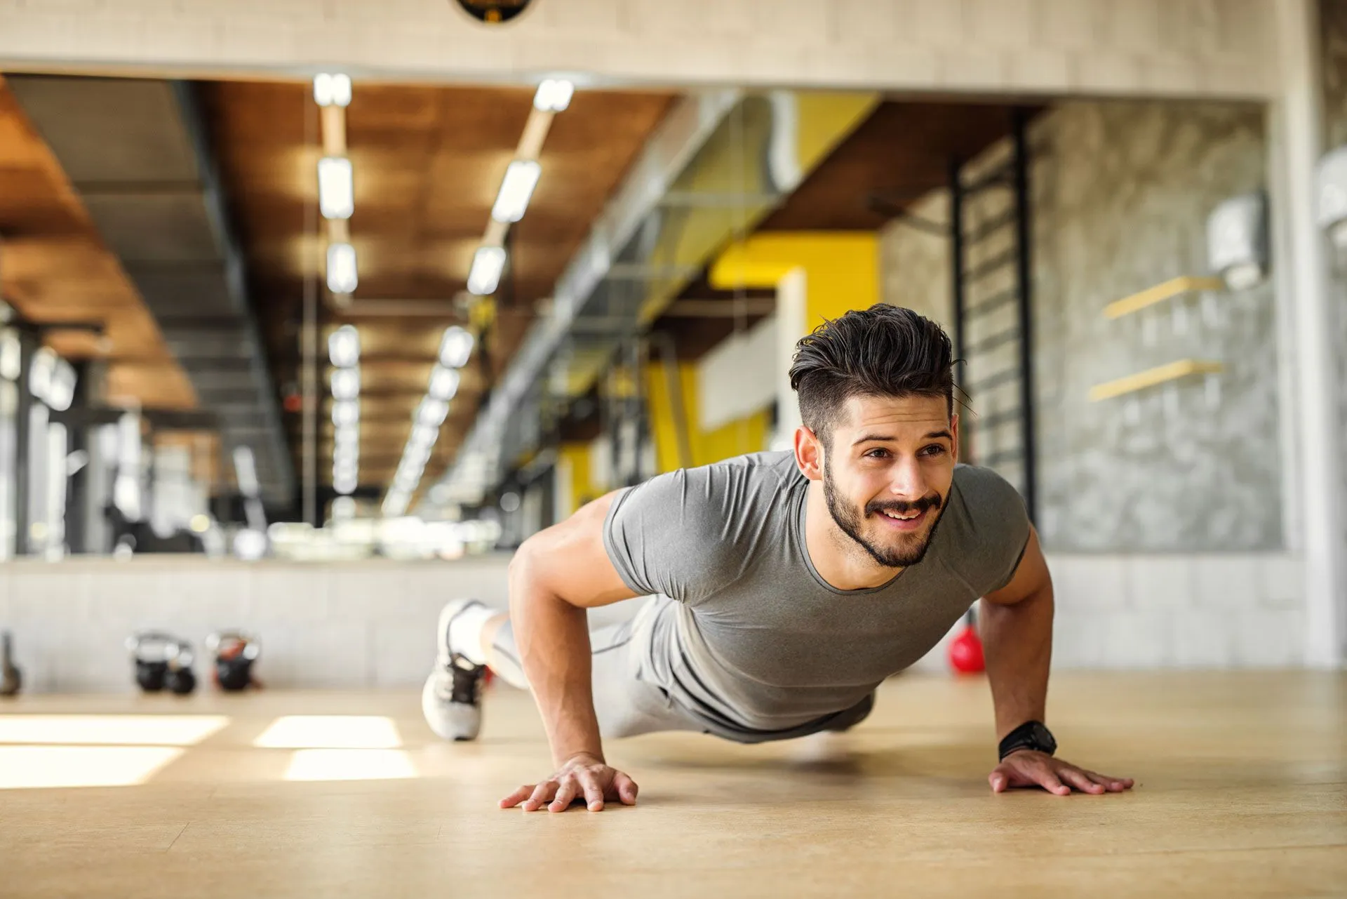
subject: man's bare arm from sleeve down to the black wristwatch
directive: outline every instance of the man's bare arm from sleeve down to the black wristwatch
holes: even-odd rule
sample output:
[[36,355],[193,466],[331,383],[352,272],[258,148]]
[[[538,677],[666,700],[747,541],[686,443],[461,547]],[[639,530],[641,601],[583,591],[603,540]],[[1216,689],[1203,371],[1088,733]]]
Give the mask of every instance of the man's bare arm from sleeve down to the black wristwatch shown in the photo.
[[979,629],[998,740],[1025,721],[1043,721],[1047,714],[1052,611],[1052,578],[1039,534],[1030,527],[1014,577],[982,597]]

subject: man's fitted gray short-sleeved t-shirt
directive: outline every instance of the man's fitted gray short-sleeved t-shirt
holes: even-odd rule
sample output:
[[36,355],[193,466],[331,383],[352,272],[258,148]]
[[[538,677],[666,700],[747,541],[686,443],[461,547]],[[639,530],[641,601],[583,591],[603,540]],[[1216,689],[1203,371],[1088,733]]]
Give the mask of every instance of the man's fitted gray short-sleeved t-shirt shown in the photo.
[[754,453],[660,474],[609,509],[609,558],[656,597],[644,677],[717,731],[784,731],[862,701],[1005,586],[1029,538],[1018,492],[959,465],[925,558],[839,590],[806,549],[808,484],[792,453]]

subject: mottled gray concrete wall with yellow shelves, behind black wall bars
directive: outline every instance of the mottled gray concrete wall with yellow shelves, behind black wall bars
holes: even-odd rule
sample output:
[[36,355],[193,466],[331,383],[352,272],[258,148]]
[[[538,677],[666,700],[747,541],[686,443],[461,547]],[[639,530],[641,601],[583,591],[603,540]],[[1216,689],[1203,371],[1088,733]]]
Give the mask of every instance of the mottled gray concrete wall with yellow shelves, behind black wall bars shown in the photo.
[[[1091,553],[1280,547],[1272,286],[1103,317],[1111,301],[1207,274],[1207,214],[1263,183],[1262,109],[1067,102],[1033,124],[1030,142],[1044,543]],[[943,202],[923,212],[943,220]],[[882,245],[885,298],[948,322],[946,241],[893,224]],[[1183,357],[1218,360],[1226,372],[1211,387],[1195,379],[1088,399],[1094,384]]]

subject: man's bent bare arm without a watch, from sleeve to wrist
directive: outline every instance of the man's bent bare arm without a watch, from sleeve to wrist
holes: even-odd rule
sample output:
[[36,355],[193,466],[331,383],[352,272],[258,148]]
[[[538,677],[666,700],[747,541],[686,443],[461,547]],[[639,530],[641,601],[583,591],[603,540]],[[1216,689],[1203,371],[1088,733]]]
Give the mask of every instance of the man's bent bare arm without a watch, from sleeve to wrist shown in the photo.
[[509,566],[515,639],[558,766],[577,756],[603,760],[585,609],[636,596],[603,549],[603,519],[616,496],[528,538]]

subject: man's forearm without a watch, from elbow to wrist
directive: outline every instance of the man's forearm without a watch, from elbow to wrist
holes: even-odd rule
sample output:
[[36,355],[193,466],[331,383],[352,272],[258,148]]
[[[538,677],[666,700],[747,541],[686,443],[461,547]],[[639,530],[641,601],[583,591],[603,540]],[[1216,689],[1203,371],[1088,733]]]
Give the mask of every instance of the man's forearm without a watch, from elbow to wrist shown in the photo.
[[558,766],[579,753],[602,759],[585,609],[540,586],[528,576],[527,562],[511,566],[509,607],[552,759]]

